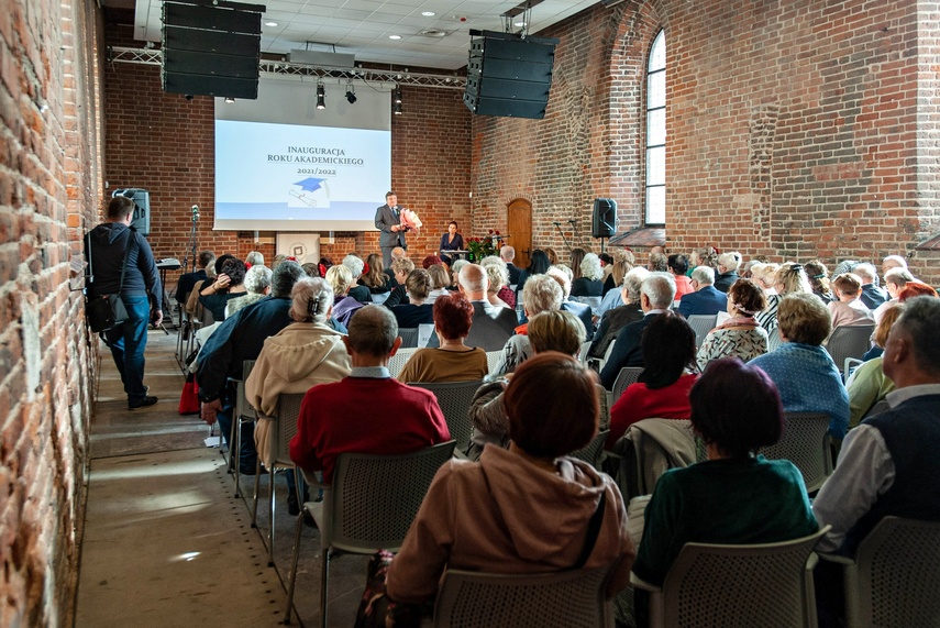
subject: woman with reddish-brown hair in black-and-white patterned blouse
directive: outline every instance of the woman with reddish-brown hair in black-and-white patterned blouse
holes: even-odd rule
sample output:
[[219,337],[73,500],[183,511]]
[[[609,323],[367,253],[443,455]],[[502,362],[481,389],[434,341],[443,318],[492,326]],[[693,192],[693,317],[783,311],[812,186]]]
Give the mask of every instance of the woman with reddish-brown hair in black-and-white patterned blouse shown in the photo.
[[709,360],[740,357],[744,362],[767,352],[767,331],[754,316],[767,307],[767,297],[753,279],[738,279],[728,289],[731,318],[712,329],[698,350],[698,367]]

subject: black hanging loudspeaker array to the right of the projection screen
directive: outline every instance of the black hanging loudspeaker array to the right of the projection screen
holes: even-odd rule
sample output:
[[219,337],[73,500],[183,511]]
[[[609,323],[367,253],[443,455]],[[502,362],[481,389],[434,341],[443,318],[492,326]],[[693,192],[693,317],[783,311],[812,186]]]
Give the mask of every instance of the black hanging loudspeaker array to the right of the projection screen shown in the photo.
[[545,117],[559,40],[471,31],[464,103],[479,115]]

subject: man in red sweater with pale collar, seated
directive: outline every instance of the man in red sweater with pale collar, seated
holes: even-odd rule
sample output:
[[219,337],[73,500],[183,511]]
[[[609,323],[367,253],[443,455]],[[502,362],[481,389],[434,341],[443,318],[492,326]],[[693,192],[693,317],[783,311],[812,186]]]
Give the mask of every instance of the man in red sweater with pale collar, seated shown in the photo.
[[290,458],[308,472],[333,478],[344,452],[399,454],[451,440],[434,394],[400,384],[388,372],[398,351],[398,323],[380,306],[362,308],[343,339],[352,362],[349,377],[313,386],[303,397]]

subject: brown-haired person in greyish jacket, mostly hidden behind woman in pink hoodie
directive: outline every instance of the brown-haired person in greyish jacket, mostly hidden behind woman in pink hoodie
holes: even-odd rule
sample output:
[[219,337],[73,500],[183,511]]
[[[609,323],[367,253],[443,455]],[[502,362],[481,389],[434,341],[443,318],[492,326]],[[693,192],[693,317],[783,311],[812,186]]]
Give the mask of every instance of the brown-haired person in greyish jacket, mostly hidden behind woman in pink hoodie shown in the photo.
[[[534,315],[529,321],[529,339],[533,355],[556,351],[575,356],[584,341],[584,324],[571,312],[545,310]],[[494,447],[509,447],[509,419],[502,406],[502,392],[508,382],[507,377],[498,377],[485,383],[474,395],[469,411],[473,437],[467,450],[467,458],[471,460],[477,460],[487,443]],[[602,390],[600,387],[598,389]],[[604,393],[600,399],[600,429],[604,430],[607,429],[609,421],[607,394]]]

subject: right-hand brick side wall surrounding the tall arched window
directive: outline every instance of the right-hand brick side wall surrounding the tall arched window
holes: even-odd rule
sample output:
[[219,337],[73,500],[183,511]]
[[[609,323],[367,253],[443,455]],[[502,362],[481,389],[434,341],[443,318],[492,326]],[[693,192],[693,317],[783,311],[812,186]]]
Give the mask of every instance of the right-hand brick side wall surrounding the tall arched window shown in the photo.
[[[585,10],[539,33],[562,40],[543,121],[474,119],[475,220],[502,227],[523,197],[535,245],[560,247],[552,222],[573,219],[573,245],[597,249],[590,201],[610,196],[618,231],[640,224],[645,55],[665,27],[671,249],[911,252],[940,227],[936,16],[902,0]],[[913,261],[935,284],[936,258]]]

